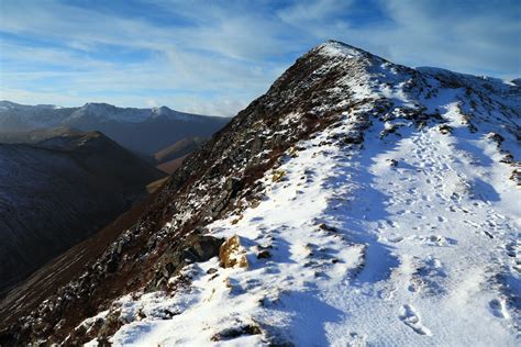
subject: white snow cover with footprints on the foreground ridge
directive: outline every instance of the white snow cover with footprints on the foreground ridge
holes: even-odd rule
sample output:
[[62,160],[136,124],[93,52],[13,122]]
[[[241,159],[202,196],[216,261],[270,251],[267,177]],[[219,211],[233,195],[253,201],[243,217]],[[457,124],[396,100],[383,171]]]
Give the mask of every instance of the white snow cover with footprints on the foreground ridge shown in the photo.
[[[392,78],[385,65],[380,69]],[[396,86],[359,92],[411,103]],[[223,269],[214,258],[189,266],[191,287],[174,296],[120,299],[129,324],[110,340],[519,346],[521,193],[496,143],[462,124],[455,102],[463,92],[441,89],[422,100],[440,110],[452,134],[401,120],[401,136],[380,139],[388,124],[374,122],[362,147],[328,141],[354,125],[346,115],[342,126],[299,143],[298,156],[277,168],[286,172],[282,181],[266,172],[266,198],[257,208],[239,222],[231,215],[209,225],[214,236],[242,237],[250,268]],[[483,128],[492,131],[487,124]],[[505,145],[520,157],[519,145]],[[257,259],[259,246],[273,247],[273,257]],[[209,268],[218,272],[207,275]],[[165,309],[176,315],[165,320]],[[211,342],[247,324],[264,333]]]

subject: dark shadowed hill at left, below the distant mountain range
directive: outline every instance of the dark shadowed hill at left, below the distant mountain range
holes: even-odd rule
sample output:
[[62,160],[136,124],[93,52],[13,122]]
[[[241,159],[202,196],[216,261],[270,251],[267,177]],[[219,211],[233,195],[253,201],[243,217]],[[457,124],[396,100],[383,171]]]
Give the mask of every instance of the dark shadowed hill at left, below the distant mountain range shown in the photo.
[[0,145],[0,292],[101,228],[163,176],[101,133],[59,134]]

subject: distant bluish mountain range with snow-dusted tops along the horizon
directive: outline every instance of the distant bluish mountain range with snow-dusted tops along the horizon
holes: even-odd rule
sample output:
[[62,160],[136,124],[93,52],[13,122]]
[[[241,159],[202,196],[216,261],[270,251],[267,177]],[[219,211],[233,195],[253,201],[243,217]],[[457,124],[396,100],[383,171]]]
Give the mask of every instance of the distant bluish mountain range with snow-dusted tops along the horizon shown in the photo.
[[[152,109],[118,108],[108,103],[86,103],[80,108],[38,104],[24,105],[0,101],[0,133],[29,132],[52,127],[100,131],[125,148],[153,155],[179,139],[208,137],[230,119]],[[7,135],[4,135],[7,136]]]

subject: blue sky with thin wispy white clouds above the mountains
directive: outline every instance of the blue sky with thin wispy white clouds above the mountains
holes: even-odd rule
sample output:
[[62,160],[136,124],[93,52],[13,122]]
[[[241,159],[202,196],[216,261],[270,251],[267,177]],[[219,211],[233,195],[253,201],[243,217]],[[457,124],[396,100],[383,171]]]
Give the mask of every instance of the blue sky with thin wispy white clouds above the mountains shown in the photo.
[[513,79],[521,1],[0,0],[0,100],[234,115],[326,40]]

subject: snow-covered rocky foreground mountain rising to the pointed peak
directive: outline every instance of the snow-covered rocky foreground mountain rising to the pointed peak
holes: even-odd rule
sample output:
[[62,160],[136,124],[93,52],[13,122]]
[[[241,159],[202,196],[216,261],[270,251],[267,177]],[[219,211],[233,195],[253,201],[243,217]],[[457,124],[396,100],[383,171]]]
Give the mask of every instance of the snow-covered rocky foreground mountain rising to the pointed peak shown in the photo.
[[516,346],[520,100],[320,45],[0,342]]

